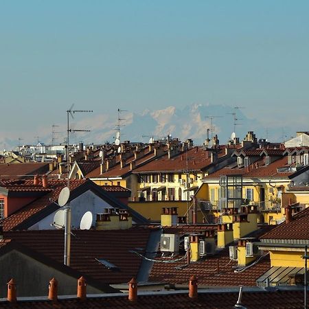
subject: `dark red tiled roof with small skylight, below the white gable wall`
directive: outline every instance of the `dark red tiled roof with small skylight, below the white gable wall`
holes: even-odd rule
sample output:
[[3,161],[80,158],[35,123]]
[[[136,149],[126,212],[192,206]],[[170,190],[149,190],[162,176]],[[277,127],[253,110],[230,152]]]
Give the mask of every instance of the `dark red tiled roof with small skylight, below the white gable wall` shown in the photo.
[[[71,236],[71,268],[103,283],[128,282],[137,276],[141,258],[130,250],[146,250],[150,229],[133,227],[125,230],[74,230]],[[5,238],[20,242],[60,263],[63,262],[63,230],[9,231]],[[118,269],[111,270],[95,259],[104,259]]]

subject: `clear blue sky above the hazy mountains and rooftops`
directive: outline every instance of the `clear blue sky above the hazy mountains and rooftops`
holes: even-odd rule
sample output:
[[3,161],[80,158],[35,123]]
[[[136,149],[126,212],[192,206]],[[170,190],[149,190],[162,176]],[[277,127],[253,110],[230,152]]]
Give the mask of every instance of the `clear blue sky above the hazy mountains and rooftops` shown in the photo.
[[115,118],[226,104],[309,130],[308,12],[284,0],[0,0],[1,137],[32,141],[73,103]]

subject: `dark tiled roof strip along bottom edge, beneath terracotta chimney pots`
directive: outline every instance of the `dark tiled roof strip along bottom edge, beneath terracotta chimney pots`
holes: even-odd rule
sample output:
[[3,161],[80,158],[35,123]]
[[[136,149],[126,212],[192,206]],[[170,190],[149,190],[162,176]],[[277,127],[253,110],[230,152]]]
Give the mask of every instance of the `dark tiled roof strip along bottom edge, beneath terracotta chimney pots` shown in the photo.
[[[47,283],[48,284],[48,283]],[[17,286],[18,293],[18,286]],[[196,299],[188,297],[187,292],[152,293],[152,295],[138,295],[137,301],[128,301],[127,295],[88,297],[85,301],[77,298],[49,300],[19,300],[12,304],[1,301],[1,308],[14,309],[101,309],[101,308],[136,308],[136,309],[231,309],[238,300],[238,292],[209,292],[200,291]],[[273,290],[242,293],[241,304],[243,308],[250,309],[300,309],[304,308],[303,290]]]

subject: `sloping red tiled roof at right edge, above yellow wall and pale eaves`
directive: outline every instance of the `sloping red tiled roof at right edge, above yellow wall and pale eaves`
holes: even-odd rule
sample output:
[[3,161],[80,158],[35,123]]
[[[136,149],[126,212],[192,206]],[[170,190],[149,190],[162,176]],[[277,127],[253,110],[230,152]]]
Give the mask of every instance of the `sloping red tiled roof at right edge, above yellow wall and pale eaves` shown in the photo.
[[286,224],[275,227],[268,233],[265,233],[260,239],[292,239],[292,240],[309,240],[309,208],[300,211],[293,216],[293,220]]

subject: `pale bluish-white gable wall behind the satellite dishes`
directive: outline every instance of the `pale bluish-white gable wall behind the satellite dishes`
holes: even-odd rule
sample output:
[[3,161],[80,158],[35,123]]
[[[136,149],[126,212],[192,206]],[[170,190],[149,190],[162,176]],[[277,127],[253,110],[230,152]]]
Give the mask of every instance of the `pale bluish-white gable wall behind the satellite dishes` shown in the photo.
[[[75,198],[70,203],[71,205],[71,225],[73,228],[80,227],[80,220],[86,211],[91,211],[93,214],[93,225],[95,223],[96,214],[102,214],[105,208],[113,208],[111,205],[102,200],[99,196],[88,190],[84,192],[78,198]],[[52,226],[54,221],[54,215],[56,211],[49,216],[43,218],[41,221],[32,225],[29,229],[55,229]]]

